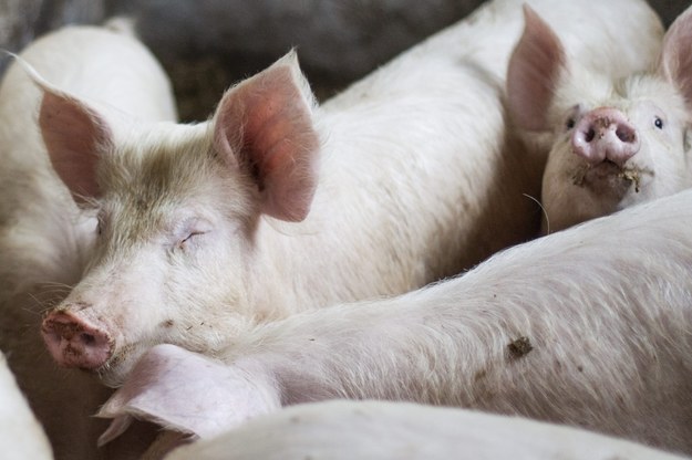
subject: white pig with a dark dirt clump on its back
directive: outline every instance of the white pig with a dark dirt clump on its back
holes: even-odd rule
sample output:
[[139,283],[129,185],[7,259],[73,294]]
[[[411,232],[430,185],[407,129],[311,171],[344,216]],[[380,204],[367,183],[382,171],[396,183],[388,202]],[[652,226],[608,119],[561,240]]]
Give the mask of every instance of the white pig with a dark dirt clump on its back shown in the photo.
[[151,348],[100,410],[210,439],[335,398],[454,406],[692,453],[692,190],[400,296],[258,326],[221,358]]

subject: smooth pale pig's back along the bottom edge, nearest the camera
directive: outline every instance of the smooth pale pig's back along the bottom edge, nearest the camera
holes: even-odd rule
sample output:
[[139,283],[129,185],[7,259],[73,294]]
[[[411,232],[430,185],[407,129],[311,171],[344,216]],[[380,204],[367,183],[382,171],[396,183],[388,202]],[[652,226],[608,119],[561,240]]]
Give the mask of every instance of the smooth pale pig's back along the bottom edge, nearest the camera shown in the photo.
[[661,450],[521,417],[407,402],[298,405],[166,460],[673,460]]

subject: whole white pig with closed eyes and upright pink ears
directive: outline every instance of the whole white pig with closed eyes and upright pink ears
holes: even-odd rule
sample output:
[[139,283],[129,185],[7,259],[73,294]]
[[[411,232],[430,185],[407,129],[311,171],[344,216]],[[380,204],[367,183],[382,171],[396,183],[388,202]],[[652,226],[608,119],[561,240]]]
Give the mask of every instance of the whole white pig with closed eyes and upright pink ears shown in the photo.
[[[44,88],[52,164],[99,215],[84,278],[43,322],[56,362],[115,387],[156,344],[214,356],[257,324],[401,294],[534,237],[538,160],[503,104],[520,3],[485,3],[321,106],[293,52],[231,87],[209,121],[126,136]],[[598,12],[589,40],[566,32],[576,48],[627,8],[612,48],[589,56],[613,73],[660,45],[643,1],[531,4],[566,31]]]

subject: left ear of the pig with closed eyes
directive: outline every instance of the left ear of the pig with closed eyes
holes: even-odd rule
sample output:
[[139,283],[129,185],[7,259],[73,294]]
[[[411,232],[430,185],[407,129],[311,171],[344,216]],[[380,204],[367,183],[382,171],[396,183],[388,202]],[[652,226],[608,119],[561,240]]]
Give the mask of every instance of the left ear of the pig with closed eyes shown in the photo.
[[78,202],[97,197],[99,151],[109,148],[113,138],[109,125],[78,98],[41,87],[39,126],[53,168]]

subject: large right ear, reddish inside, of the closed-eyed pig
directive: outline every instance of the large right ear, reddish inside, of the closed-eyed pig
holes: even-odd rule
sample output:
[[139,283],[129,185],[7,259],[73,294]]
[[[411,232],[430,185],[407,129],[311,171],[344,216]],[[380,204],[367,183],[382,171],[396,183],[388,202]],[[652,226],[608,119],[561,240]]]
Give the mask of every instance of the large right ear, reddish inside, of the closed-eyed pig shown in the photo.
[[215,115],[215,147],[231,167],[246,168],[262,212],[300,221],[317,187],[319,137],[313,96],[291,52],[226,93]]

